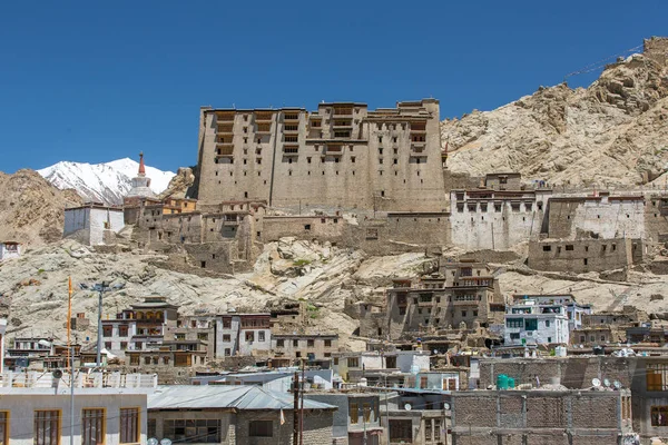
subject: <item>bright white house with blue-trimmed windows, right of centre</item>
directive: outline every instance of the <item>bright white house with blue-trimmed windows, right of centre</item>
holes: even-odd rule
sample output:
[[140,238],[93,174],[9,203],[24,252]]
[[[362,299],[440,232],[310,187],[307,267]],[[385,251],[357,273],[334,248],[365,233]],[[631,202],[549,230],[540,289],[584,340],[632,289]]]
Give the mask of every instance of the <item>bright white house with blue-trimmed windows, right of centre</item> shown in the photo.
[[566,344],[570,338],[564,305],[538,304],[527,299],[505,314],[505,345]]

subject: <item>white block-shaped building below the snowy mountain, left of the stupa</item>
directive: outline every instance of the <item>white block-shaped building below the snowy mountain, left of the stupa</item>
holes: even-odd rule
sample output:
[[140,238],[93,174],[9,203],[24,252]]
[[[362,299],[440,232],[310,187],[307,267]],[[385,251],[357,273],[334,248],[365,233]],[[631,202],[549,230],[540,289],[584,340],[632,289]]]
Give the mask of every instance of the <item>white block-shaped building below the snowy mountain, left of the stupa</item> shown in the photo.
[[124,227],[122,208],[91,202],[65,209],[62,236],[87,246],[114,244]]

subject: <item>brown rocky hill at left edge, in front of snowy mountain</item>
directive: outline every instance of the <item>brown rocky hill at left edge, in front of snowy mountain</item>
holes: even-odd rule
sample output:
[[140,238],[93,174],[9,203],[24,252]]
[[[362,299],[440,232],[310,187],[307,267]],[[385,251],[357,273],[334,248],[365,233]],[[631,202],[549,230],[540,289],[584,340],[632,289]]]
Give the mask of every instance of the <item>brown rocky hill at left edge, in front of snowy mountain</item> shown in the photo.
[[37,171],[0,171],[0,240],[28,247],[62,237],[65,208],[82,204],[73,190],[58,190]]

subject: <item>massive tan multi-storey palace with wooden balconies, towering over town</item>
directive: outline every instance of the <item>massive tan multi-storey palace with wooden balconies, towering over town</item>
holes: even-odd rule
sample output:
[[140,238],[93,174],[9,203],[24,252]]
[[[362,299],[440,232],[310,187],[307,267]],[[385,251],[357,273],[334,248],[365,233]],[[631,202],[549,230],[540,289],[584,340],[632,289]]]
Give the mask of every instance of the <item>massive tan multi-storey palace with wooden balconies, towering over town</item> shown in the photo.
[[[199,119],[200,208],[235,199],[272,207],[445,208],[439,101],[212,109]],[[295,211],[296,212],[296,211]]]

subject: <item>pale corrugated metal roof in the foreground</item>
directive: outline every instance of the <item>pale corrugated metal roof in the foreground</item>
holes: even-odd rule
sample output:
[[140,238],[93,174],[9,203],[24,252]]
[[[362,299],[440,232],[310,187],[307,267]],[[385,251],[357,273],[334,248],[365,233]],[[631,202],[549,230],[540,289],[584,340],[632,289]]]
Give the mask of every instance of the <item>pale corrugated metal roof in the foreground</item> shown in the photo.
[[[148,396],[148,409],[177,408],[293,409],[293,395],[255,385],[170,385],[158,386]],[[305,398],[304,409],[336,409],[336,406]]]

